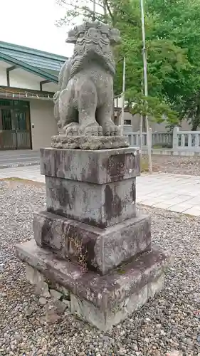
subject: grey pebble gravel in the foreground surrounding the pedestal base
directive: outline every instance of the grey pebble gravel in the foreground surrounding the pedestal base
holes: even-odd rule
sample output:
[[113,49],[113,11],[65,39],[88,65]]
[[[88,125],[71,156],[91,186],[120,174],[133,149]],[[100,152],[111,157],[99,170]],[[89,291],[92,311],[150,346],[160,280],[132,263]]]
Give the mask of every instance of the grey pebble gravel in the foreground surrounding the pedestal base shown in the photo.
[[33,209],[44,202],[42,185],[0,182],[1,356],[200,356],[199,219],[146,209],[152,215],[153,241],[173,251],[174,266],[162,293],[101,333],[68,310],[60,323],[44,323],[44,307],[26,282],[14,246],[31,238]]

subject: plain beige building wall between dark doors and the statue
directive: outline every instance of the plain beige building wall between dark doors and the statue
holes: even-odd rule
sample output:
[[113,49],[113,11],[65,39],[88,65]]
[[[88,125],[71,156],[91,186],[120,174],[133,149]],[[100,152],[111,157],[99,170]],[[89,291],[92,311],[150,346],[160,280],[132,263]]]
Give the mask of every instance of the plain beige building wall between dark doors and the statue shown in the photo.
[[53,101],[30,100],[32,149],[51,147],[51,136],[57,135]]

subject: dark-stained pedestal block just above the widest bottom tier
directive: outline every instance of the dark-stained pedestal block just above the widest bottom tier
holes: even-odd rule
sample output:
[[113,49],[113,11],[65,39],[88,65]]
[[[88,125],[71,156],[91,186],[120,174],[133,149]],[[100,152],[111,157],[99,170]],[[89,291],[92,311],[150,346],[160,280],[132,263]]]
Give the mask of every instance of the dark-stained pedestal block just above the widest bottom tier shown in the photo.
[[34,214],[34,236],[39,246],[48,246],[61,258],[80,262],[105,274],[132,256],[151,249],[149,216],[140,215],[120,224],[95,226],[40,211]]

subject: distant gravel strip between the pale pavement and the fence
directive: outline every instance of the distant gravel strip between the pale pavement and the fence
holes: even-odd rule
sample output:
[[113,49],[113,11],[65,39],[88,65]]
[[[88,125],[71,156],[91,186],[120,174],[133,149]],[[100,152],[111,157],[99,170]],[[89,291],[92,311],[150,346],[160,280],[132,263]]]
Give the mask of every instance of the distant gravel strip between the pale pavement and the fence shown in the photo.
[[[200,156],[177,157],[152,155],[152,166],[155,172],[200,176]],[[147,156],[144,156],[144,168],[147,168]]]

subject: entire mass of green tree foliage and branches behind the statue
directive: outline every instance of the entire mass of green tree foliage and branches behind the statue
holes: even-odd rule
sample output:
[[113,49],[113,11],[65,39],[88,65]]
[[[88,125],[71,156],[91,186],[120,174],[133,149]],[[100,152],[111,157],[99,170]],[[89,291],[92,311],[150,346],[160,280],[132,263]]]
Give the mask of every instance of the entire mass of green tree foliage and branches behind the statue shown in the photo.
[[[70,1],[72,1],[70,3]],[[58,0],[66,6],[60,24],[93,19],[93,0]],[[200,0],[145,0],[148,97],[142,93],[142,28],[140,0],[98,0],[96,19],[116,26],[122,43],[115,48],[115,95],[122,92],[122,58],[126,58],[126,99],[140,112],[171,125],[189,118],[200,122]]]

